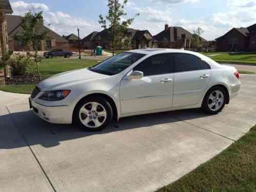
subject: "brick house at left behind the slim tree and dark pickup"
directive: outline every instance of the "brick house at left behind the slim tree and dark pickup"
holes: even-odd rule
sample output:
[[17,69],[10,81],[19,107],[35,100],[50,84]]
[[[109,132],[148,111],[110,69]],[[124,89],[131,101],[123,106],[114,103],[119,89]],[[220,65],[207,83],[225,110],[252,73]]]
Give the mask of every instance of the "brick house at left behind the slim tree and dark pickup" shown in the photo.
[[[22,17],[17,15],[7,15],[7,28],[8,28],[8,38],[9,38],[9,49],[13,51],[30,51],[31,47],[24,47],[21,42],[14,41],[14,35],[22,32]],[[40,50],[50,50],[50,49],[63,49],[68,48],[68,41],[62,36],[52,31],[51,29],[44,26],[43,20],[41,23],[41,30],[48,31],[45,41],[41,42]]]

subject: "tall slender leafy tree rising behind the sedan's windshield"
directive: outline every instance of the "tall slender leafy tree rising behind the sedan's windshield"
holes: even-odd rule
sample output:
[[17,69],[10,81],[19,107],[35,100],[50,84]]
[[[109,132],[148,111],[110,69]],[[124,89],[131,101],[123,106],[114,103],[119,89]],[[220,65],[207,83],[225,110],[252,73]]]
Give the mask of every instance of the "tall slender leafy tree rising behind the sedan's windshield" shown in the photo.
[[[122,1],[123,3],[120,3]],[[123,16],[127,15],[124,12],[124,6],[127,4],[127,0],[108,0],[108,14],[105,19],[102,15],[99,15],[99,23],[101,27],[108,31],[109,36],[111,36],[111,46],[113,56],[115,55],[115,48],[120,45],[123,35],[126,33],[128,27],[133,23],[135,17],[129,18],[127,20],[122,20]],[[107,27],[107,22],[109,23]]]

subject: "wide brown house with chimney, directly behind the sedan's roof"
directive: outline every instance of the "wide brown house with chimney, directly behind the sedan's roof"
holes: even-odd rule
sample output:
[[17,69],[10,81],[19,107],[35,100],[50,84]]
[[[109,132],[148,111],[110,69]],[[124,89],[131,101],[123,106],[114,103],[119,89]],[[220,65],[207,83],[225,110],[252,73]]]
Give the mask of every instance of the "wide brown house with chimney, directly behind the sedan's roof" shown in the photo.
[[[202,42],[207,41],[200,37]],[[154,43],[160,48],[192,48],[193,34],[182,27],[169,27],[168,24],[164,26],[164,30],[154,36]]]

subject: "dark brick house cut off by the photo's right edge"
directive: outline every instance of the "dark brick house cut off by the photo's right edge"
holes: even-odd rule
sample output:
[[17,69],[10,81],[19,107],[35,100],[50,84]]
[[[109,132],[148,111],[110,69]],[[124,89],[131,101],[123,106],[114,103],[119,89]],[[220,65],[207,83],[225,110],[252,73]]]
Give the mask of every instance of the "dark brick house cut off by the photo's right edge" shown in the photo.
[[256,24],[233,28],[216,39],[219,51],[256,51]]

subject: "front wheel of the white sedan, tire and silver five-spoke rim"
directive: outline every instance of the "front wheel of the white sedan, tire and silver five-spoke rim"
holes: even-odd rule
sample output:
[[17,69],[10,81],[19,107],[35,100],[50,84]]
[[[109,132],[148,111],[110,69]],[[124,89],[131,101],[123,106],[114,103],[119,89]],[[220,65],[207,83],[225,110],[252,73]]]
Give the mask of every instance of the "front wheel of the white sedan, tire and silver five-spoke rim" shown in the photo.
[[74,123],[86,131],[100,131],[112,122],[113,110],[102,97],[81,100],[74,111]]

